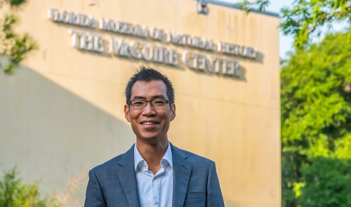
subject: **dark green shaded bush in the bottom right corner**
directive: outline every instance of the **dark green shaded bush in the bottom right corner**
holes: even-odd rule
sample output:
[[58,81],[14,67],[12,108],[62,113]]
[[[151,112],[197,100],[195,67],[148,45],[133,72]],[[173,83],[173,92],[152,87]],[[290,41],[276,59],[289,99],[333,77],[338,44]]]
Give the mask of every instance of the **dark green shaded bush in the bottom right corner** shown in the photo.
[[317,157],[303,168],[300,206],[351,206],[351,160]]

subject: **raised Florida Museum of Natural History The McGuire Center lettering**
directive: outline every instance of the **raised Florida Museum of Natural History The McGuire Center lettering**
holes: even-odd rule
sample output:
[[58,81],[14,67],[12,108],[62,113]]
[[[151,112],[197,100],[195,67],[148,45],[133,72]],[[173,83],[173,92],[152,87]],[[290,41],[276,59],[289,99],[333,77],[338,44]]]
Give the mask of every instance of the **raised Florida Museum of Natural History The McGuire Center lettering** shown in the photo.
[[[48,19],[53,22],[86,27],[102,32],[123,34],[132,37],[133,41],[125,38],[110,36],[104,39],[99,32],[88,32],[81,29],[69,29],[72,46],[81,51],[105,53],[117,57],[145,60],[178,67],[184,64],[199,72],[242,77],[239,63],[236,60],[223,58],[223,55],[237,56],[255,60],[257,49],[249,46],[230,44],[223,41],[214,42],[199,36],[191,36],[164,29],[134,25],[106,18],[95,20],[92,15],[48,9]],[[152,40],[152,41],[148,41]],[[179,53],[175,46],[187,48]],[[189,50],[192,48],[192,50]],[[196,49],[196,50],[194,50]],[[204,55],[198,51],[206,51],[213,55]]]

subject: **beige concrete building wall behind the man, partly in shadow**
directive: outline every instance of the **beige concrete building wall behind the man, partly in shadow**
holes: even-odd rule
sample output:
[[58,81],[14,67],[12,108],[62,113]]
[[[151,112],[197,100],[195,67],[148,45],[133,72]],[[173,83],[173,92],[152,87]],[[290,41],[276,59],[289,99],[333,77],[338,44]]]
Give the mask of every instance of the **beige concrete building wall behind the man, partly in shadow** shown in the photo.
[[[176,88],[177,116],[168,133],[174,145],[216,161],[227,206],[280,206],[278,18],[196,1],[39,1],[23,8],[19,31],[40,48],[11,76],[0,74],[0,168],[17,165],[24,180],[79,206],[89,168],[135,141],[124,119],[123,93],[140,64],[166,74]],[[244,78],[196,72],[131,58],[79,51],[68,29],[99,32],[106,39],[132,36],[56,23],[48,8],[77,11],[158,27],[213,41],[258,48],[256,60],[237,60]],[[213,53],[152,40],[179,53]],[[72,185],[74,183],[74,185]],[[78,198],[77,200],[75,198]],[[68,202],[68,201],[66,201]]]

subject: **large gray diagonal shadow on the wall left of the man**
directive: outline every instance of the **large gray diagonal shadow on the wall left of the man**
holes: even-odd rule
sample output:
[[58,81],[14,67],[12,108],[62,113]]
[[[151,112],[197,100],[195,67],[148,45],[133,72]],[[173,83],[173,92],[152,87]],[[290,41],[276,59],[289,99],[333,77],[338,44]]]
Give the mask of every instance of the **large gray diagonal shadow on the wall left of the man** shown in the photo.
[[135,142],[126,122],[28,67],[0,72],[0,114],[0,171],[18,166],[25,182],[61,196],[79,180],[81,201],[88,169]]

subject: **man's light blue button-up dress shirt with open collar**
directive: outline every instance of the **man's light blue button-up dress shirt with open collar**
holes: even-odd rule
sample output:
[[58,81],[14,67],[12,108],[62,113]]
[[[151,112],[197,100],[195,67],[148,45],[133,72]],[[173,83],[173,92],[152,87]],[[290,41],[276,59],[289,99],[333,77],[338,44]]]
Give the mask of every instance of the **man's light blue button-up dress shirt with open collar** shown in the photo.
[[173,200],[173,158],[171,145],[161,159],[161,169],[154,175],[134,145],[134,163],[141,207],[171,207]]

